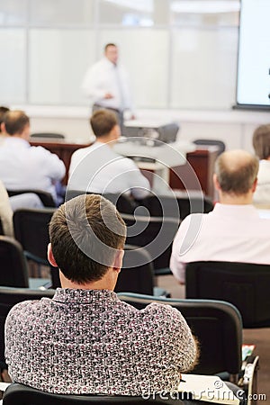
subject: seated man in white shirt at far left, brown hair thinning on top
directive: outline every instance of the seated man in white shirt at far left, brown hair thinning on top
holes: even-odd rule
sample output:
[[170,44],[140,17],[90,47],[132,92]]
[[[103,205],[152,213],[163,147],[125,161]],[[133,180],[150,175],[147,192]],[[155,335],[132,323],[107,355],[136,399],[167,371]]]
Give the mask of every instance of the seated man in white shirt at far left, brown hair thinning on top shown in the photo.
[[42,147],[31,147],[30,120],[23,111],[4,114],[6,133],[0,148],[0,178],[7,190],[44,190],[57,202],[55,184],[66,172],[57,155]]

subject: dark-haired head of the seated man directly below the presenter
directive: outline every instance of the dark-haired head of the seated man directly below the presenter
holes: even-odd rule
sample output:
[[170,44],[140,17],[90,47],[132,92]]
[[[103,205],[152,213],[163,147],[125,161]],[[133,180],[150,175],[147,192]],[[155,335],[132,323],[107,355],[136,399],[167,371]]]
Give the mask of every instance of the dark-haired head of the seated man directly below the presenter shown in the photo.
[[109,143],[112,146],[121,136],[120,126],[114,112],[109,110],[97,110],[90,117],[90,125],[96,140]]

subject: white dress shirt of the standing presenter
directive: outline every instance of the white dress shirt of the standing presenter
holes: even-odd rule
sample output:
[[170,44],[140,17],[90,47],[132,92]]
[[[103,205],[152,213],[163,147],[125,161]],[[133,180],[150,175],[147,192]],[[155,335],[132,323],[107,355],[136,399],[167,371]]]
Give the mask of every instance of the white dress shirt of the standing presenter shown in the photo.
[[[108,58],[99,60],[87,70],[82,91],[93,103],[104,108],[119,111],[132,109],[127,72],[124,67],[114,65]],[[106,93],[111,93],[113,97],[105,99]]]

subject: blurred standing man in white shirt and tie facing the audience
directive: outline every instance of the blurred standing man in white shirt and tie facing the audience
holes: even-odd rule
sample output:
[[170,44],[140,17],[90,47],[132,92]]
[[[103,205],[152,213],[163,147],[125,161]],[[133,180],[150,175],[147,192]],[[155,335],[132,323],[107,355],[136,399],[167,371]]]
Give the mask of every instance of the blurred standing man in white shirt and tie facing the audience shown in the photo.
[[132,105],[128,75],[118,58],[118,47],[114,43],[105,45],[104,57],[87,70],[82,90],[91,98],[93,112],[100,108],[112,110],[122,129],[123,112],[132,110]]

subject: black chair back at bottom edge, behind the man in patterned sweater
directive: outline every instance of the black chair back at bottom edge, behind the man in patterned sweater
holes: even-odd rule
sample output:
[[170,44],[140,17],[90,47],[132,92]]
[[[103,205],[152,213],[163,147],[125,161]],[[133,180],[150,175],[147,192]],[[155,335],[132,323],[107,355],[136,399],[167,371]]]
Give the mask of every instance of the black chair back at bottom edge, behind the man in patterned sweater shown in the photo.
[[113,405],[165,405],[175,402],[175,405],[192,405],[192,401],[167,401],[160,395],[157,399],[145,400],[142,396],[131,397],[124,395],[65,395],[42,392],[20,383],[12,383],[4,392],[3,405],[80,405],[80,404],[113,404]]

